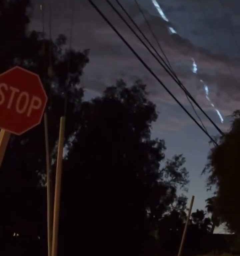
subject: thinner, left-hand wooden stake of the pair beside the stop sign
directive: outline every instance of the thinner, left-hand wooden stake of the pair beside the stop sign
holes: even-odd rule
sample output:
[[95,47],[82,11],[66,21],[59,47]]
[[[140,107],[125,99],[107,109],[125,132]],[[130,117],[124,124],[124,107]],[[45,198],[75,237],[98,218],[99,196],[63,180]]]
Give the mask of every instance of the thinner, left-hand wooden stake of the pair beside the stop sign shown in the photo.
[[52,228],[53,228],[53,202],[52,202],[52,179],[50,174],[50,157],[48,141],[47,114],[44,114],[45,148],[46,148],[46,174],[47,174],[47,225],[48,225],[48,256],[52,253]]

